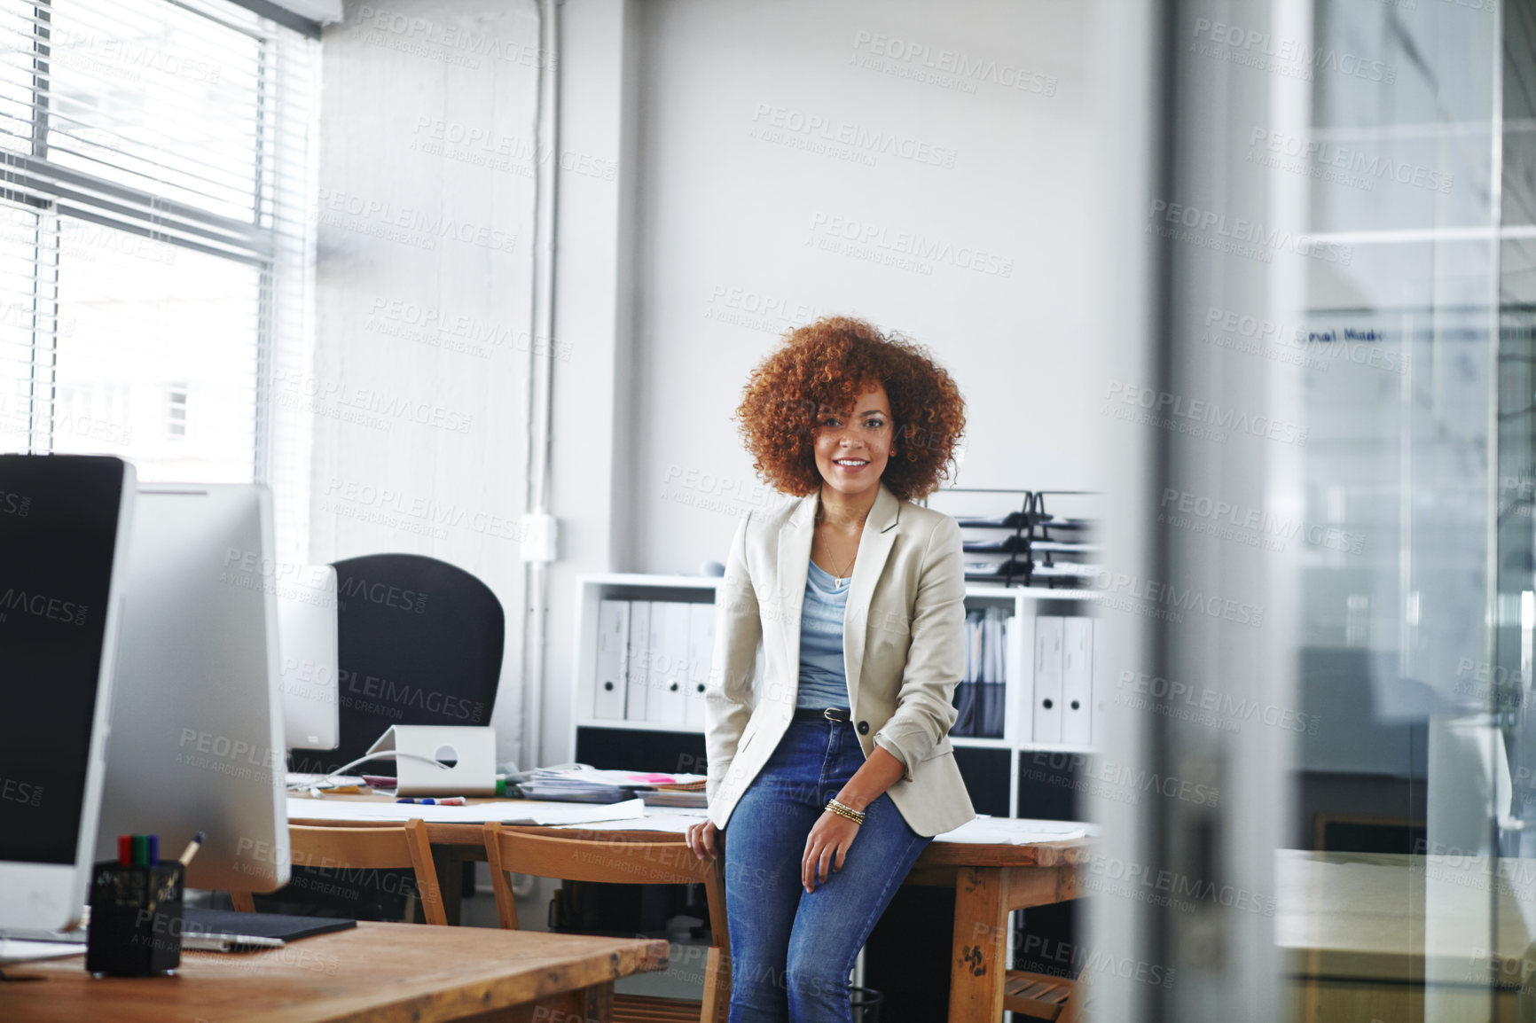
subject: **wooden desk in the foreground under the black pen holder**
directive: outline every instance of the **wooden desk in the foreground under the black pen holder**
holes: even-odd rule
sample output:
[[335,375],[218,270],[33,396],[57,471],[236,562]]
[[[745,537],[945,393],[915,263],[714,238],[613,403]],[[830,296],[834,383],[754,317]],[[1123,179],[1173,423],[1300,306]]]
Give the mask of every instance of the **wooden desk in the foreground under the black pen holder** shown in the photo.
[[[531,1023],[610,1020],[613,982],[665,969],[667,942],[358,923],[267,952],[183,952],[175,977],[8,966],[6,1023]],[[35,977],[35,982],[20,980]]]

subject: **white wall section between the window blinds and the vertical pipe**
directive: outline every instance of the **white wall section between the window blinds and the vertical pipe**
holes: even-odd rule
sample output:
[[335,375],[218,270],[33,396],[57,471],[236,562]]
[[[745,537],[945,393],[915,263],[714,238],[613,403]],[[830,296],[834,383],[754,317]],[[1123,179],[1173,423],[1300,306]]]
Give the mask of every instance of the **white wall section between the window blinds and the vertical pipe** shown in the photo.
[[[518,754],[536,22],[530,2],[346,5],[324,35],[310,558],[413,551],[495,590]],[[280,386],[280,399],[284,389]],[[429,594],[430,599],[430,594]]]

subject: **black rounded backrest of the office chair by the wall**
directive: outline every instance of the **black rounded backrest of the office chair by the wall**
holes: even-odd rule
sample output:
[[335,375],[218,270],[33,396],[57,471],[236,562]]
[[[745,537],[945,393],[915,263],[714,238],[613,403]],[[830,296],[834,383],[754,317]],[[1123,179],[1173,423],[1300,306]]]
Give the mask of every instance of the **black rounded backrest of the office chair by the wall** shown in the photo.
[[[390,725],[488,725],[507,636],[490,587],[421,555],[366,555],[335,567],[335,762],[361,757]],[[393,773],[392,762],[379,766]]]

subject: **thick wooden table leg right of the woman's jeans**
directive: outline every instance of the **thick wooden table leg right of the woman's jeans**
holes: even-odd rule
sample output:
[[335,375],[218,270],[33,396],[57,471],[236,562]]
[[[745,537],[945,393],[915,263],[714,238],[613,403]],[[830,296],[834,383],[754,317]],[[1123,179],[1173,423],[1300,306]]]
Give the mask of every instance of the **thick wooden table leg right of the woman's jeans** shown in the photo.
[[1003,1018],[1008,971],[1008,874],[995,866],[955,871],[955,932],[949,963],[949,1021]]

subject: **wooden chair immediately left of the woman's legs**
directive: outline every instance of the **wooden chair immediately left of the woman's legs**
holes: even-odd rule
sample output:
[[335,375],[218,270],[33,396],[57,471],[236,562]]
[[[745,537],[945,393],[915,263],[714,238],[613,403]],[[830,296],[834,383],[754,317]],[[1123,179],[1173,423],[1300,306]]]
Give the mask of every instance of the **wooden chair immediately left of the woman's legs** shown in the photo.
[[714,935],[705,960],[703,1001],[614,995],[614,1023],[725,1023],[731,1001],[731,939],[725,926],[725,862],[699,860],[684,842],[596,842],[485,825],[485,859],[496,888],[496,917],[518,929],[518,906],[508,874],[619,885],[702,883]]

